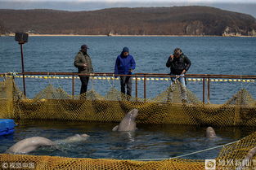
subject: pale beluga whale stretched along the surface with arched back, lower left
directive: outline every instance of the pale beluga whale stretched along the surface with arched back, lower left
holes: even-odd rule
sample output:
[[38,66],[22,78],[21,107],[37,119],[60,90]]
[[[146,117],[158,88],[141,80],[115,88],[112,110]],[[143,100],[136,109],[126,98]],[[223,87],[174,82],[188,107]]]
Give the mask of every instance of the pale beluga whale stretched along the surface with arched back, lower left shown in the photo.
[[72,142],[81,142],[86,140],[89,137],[87,134],[76,134],[72,137],[67,137],[62,140],[57,140],[52,142],[46,137],[28,137],[20,142],[17,142],[11,146],[6,153],[7,154],[27,154],[33,150],[38,149],[40,146],[56,146],[58,143],[72,143]]

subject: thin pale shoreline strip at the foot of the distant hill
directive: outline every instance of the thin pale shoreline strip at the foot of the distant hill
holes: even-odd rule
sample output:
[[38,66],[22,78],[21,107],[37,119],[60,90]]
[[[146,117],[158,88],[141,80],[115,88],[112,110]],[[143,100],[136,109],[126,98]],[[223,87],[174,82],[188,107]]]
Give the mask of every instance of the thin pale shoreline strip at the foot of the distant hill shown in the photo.
[[[0,34],[0,37],[14,37],[15,33]],[[242,35],[79,35],[79,34],[34,34],[29,33],[29,37],[256,37],[256,36],[242,36]]]

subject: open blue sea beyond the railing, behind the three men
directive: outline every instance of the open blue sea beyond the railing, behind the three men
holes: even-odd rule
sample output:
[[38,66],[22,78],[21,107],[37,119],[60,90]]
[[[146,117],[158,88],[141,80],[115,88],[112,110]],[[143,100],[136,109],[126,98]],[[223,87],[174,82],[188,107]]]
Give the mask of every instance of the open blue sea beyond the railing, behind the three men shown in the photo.
[[[176,47],[191,60],[191,74],[256,74],[256,37],[29,37],[23,47],[25,72],[77,72],[74,56],[87,44],[94,72],[114,72],[115,59],[128,46],[137,67],[134,73],[169,73],[165,63]],[[0,37],[0,72],[21,72],[20,45],[14,37]],[[52,84],[71,94],[71,80],[26,79],[27,97],[34,98]],[[22,80],[16,79],[22,89]],[[146,97],[155,98],[168,88],[169,81],[147,81]],[[132,95],[135,95],[133,83]],[[119,81],[90,81],[88,89],[105,95],[111,87],[119,89]],[[202,100],[202,82],[187,81],[190,89]],[[256,97],[255,83],[211,82],[210,102],[226,102],[240,89],[248,89]],[[75,81],[79,94],[80,81]],[[138,82],[138,97],[143,98],[143,82]]]

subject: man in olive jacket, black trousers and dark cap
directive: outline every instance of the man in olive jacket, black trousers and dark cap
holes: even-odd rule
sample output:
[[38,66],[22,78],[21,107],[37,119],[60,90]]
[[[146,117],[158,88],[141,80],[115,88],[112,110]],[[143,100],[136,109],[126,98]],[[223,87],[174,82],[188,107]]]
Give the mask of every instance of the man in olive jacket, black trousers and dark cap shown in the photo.
[[[88,51],[87,45],[81,46],[81,50],[79,50],[78,54],[74,58],[74,67],[79,69],[79,73],[90,74],[93,72],[92,60],[88,55],[87,51]],[[82,83],[80,94],[84,94],[87,92],[87,89],[88,89],[89,76],[79,76],[79,77]]]

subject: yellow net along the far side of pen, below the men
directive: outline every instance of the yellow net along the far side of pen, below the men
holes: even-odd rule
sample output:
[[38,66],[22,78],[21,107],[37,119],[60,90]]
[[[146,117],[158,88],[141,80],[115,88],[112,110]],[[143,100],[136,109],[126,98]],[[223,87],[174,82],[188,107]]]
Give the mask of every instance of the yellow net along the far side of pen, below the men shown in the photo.
[[105,96],[93,89],[86,95],[72,96],[53,85],[47,85],[34,98],[25,98],[11,79],[1,82],[0,88],[0,118],[119,122],[125,113],[137,108],[137,123],[141,124],[256,124],[256,101],[245,89],[224,104],[204,104],[189,89],[186,102],[182,101],[178,83],[146,99],[129,98],[115,88]]

